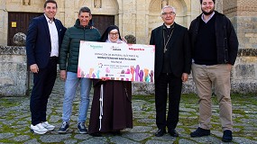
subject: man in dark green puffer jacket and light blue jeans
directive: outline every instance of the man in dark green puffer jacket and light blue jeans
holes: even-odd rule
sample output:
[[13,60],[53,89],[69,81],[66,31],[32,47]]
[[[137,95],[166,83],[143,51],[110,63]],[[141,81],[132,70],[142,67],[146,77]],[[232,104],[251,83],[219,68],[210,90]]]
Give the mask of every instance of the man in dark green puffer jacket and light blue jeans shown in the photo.
[[89,105],[89,93],[92,81],[89,78],[78,77],[78,54],[80,40],[98,41],[100,32],[96,28],[90,28],[92,19],[88,7],[82,7],[78,13],[78,19],[73,27],[70,27],[64,35],[60,49],[60,78],[65,81],[65,94],[63,101],[62,125],[59,133],[66,133],[69,129],[69,119],[72,103],[75,98],[76,88],[80,82],[80,104],[78,111],[78,131],[87,133],[85,121]]

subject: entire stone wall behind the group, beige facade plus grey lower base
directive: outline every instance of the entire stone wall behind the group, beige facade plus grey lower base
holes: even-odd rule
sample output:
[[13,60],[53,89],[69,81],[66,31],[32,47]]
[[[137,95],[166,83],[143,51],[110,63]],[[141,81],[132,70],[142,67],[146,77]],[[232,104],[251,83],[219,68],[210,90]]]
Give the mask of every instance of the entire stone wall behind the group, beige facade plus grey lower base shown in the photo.
[[[8,12],[42,13],[44,1],[0,0],[0,45],[7,43]],[[191,0],[58,0],[56,15],[65,26],[74,24],[78,9],[87,5],[92,14],[115,15],[115,24],[122,35],[132,34],[137,43],[148,44],[151,30],[162,24],[161,6],[170,4],[177,10],[175,22],[188,27],[201,13],[200,4]],[[96,3],[97,2],[97,3]],[[99,3],[101,2],[101,3]],[[100,4],[100,5],[98,5]],[[231,73],[233,93],[256,93],[257,91],[257,4],[252,0],[216,1],[216,10],[224,13],[234,24],[239,40],[238,58]],[[26,93],[27,72],[23,47],[0,47],[0,95]],[[18,93],[19,91],[19,93]],[[195,93],[189,77],[183,85],[183,93]],[[153,94],[154,85],[133,83],[133,94]]]

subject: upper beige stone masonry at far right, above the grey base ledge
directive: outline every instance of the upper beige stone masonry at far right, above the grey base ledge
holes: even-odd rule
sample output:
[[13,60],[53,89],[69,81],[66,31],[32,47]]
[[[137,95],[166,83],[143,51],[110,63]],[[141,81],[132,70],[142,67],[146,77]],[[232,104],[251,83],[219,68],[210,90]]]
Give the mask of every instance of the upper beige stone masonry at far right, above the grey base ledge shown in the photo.
[[257,48],[257,11],[252,0],[231,0],[224,2],[224,14],[234,24],[239,38],[240,49]]

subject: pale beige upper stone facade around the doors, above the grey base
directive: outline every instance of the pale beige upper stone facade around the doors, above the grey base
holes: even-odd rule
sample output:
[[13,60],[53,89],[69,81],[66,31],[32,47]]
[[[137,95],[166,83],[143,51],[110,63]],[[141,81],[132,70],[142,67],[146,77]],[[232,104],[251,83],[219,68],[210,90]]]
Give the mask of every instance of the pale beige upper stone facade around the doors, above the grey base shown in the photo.
[[[8,12],[42,13],[44,1],[0,0],[0,45],[7,44]],[[160,26],[161,6],[170,4],[177,10],[175,22],[188,27],[201,13],[199,1],[191,0],[58,0],[58,13],[66,27],[74,24],[78,9],[87,5],[92,14],[115,15],[115,24],[123,36],[132,34],[137,43],[148,44],[151,30]],[[100,5],[99,5],[100,4]],[[234,23],[240,49],[256,49],[257,5],[252,0],[216,1],[216,10],[226,14]]]

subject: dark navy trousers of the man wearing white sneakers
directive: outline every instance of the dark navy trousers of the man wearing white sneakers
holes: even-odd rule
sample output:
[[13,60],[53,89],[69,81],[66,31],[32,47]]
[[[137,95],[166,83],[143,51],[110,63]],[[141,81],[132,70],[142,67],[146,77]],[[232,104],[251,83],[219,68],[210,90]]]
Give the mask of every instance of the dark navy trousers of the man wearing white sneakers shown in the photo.
[[48,98],[57,76],[57,58],[49,60],[45,68],[40,68],[33,74],[33,88],[30,109],[32,112],[32,125],[46,121]]

